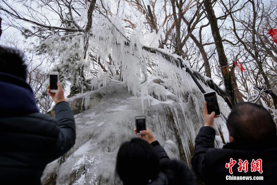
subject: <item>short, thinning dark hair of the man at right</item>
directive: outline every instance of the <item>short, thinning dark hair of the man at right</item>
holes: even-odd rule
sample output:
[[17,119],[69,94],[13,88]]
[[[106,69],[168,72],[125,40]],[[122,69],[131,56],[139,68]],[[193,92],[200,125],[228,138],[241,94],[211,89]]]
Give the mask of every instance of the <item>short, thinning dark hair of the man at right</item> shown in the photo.
[[263,141],[276,137],[276,125],[262,106],[241,102],[236,104],[227,119],[227,128],[235,141]]

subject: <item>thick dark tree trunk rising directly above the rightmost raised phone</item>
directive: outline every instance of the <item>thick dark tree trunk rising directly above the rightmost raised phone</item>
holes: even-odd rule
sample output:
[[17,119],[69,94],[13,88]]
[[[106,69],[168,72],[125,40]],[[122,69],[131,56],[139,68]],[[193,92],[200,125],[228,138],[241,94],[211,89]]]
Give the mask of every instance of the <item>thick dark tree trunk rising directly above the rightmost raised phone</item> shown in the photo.
[[[220,32],[219,32],[219,28],[217,25],[217,18],[214,15],[214,10],[212,8],[212,4],[210,0],[204,0],[204,6],[206,9],[206,14],[207,14],[207,18],[210,22],[211,25],[211,31],[212,31],[212,35],[214,38],[214,43],[217,49],[217,54],[218,54],[218,60],[219,60],[219,64],[221,67],[221,72],[222,72],[222,76],[223,76],[223,81],[224,81],[224,85],[226,88],[226,92],[227,94],[230,96],[231,98],[231,107],[235,105],[236,100],[235,100],[235,92],[233,89],[233,85],[232,85],[232,80],[231,80],[231,74],[228,68],[228,60],[227,57],[225,55],[224,52],[224,47],[222,44],[222,38],[220,36]],[[230,106],[230,105],[229,105]]]

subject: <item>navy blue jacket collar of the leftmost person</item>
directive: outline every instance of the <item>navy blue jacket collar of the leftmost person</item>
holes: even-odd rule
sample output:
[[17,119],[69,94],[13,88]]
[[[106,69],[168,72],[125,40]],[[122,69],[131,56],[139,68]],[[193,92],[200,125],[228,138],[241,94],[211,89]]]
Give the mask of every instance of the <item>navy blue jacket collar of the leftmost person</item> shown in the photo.
[[21,78],[0,73],[0,117],[38,112],[32,88]]

